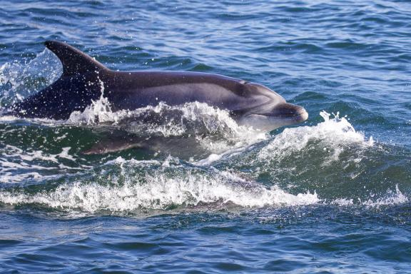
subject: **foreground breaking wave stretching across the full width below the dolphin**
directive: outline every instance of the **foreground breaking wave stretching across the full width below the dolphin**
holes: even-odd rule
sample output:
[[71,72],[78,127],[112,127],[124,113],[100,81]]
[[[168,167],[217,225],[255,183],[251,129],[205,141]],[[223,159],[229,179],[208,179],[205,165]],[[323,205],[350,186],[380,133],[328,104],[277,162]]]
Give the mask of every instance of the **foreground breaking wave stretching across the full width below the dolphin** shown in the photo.
[[58,186],[26,186],[0,191],[0,203],[54,208],[71,215],[84,213],[149,213],[153,210],[283,207],[298,205],[364,205],[380,208],[409,202],[398,188],[367,201],[335,199],[318,193],[288,193],[215,168],[188,166],[178,158],[135,161],[116,158]]

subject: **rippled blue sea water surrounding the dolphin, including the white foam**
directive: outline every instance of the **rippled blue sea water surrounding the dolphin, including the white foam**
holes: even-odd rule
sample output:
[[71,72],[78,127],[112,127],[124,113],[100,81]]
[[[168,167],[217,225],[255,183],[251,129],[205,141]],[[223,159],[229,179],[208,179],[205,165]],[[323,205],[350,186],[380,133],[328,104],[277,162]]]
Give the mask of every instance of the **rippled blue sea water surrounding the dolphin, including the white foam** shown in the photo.
[[262,83],[310,118],[264,135],[161,105],[137,113],[161,123],[126,130],[163,152],[87,156],[97,118],[123,117],[103,101],[69,121],[3,117],[0,269],[410,272],[410,19],[407,1],[1,1],[2,108],[59,77],[43,45],[58,39],[113,69]]

